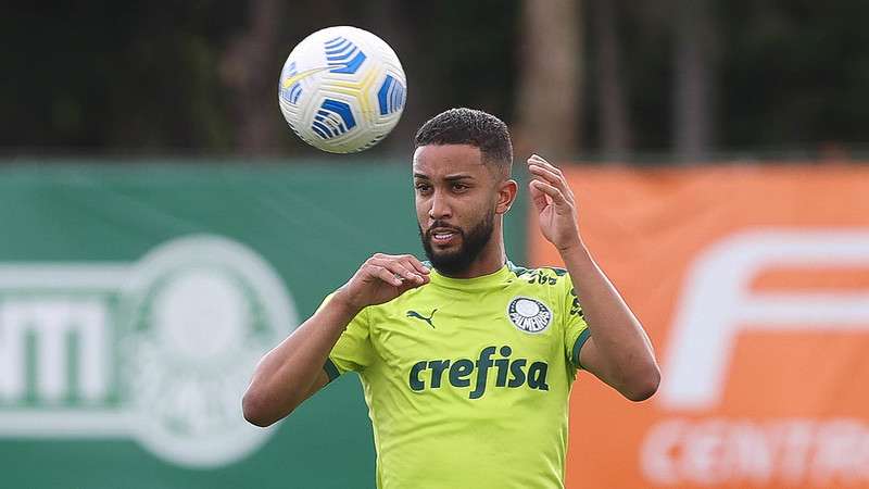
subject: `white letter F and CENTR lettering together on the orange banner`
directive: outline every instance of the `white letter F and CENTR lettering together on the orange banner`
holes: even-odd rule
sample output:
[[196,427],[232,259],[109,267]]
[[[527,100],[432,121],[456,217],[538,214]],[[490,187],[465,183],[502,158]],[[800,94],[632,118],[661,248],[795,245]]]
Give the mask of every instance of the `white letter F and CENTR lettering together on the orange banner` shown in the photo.
[[[869,334],[867,290],[752,287],[766,271],[807,267],[869,269],[869,233],[742,233],[717,242],[694,263],[677,309],[655,399],[676,416],[653,425],[641,448],[642,469],[650,480],[665,486],[738,481],[753,487],[773,481],[839,487],[869,480],[866,418],[713,414],[725,401],[728,373],[735,366],[736,339],[743,333]],[[815,368],[830,365],[823,346],[818,347],[817,360]],[[806,385],[792,396],[797,400],[818,388],[823,387]],[[759,410],[764,404],[758,391],[752,408]]]

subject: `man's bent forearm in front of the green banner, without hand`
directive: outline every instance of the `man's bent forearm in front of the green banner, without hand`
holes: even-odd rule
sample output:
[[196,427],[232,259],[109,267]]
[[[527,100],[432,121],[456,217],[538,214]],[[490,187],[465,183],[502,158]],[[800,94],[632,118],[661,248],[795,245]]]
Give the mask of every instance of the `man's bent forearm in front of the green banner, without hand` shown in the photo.
[[301,404],[356,313],[340,301],[329,301],[268,352],[256,366],[244,393],[244,417],[255,425],[268,426]]

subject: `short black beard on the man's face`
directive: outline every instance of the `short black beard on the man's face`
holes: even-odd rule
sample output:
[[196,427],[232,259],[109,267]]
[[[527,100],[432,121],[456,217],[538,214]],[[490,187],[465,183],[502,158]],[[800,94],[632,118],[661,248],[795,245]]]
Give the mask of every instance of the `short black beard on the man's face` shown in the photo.
[[[486,244],[492,239],[492,231],[494,230],[495,212],[490,210],[487,215],[469,231],[465,233],[464,229],[448,226],[441,222],[434,222],[429,230],[423,231],[419,227],[419,238],[423,240],[423,249],[426,251],[431,266],[443,275],[459,275],[480,255]],[[462,238],[462,244],[455,251],[434,251],[431,247],[431,230],[437,227],[450,227]]]

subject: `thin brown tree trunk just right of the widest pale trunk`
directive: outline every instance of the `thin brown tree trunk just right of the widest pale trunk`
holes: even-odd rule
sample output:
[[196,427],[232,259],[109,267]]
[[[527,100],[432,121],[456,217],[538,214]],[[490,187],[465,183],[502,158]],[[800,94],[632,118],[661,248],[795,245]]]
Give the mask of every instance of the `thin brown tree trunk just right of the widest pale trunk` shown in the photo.
[[630,127],[625,103],[625,84],[619,68],[619,37],[613,0],[592,5],[597,51],[597,103],[601,151],[610,161],[624,160],[630,149]]

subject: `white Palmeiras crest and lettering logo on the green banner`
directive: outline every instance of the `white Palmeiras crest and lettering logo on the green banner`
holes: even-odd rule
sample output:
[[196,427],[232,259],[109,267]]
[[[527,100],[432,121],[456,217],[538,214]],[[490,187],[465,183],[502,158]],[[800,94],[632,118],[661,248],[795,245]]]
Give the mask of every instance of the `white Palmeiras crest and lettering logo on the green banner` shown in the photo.
[[229,464],[273,432],[240,399],[295,326],[268,263],[217,236],[135,264],[0,264],[0,437],[133,438],[175,464]]

